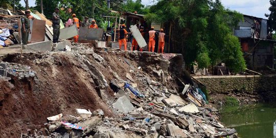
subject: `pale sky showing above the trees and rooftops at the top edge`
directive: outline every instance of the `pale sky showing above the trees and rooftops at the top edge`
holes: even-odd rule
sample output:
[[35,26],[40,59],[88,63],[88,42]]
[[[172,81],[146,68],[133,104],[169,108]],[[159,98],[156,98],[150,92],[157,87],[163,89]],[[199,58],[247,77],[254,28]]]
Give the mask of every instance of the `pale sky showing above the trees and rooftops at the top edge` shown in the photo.
[[[268,8],[270,7],[269,0],[221,0],[222,4],[231,10],[236,10],[246,15],[252,15],[256,17],[266,18],[265,13],[270,13]],[[156,0],[142,0],[144,5],[152,5],[157,3]],[[23,0],[21,4],[25,6]],[[35,6],[35,0],[29,0],[30,6]]]

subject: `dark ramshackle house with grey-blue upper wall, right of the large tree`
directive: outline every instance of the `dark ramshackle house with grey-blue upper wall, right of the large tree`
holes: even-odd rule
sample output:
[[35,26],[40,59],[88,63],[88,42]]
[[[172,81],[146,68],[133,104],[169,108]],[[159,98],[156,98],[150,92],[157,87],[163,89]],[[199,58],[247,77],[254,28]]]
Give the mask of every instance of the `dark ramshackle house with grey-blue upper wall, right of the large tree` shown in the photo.
[[258,70],[266,66],[273,68],[275,41],[268,31],[268,20],[248,15],[243,15],[234,28],[234,35],[239,37],[241,48],[244,52],[247,68]]

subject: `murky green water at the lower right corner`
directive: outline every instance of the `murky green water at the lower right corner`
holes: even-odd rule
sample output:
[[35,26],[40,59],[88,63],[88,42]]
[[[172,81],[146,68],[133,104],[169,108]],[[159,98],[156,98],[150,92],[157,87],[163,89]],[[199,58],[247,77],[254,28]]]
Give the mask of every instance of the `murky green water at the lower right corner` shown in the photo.
[[221,122],[234,127],[242,138],[276,138],[276,105],[259,103],[224,107]]

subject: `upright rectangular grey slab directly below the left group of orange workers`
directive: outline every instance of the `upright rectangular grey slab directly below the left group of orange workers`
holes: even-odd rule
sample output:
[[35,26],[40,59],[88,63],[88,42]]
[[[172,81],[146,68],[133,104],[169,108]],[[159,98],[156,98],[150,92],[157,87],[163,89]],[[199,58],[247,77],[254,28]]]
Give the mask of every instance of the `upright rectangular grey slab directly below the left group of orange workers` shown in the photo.
[[103,29],[80,27],[79,40],[101,40]]

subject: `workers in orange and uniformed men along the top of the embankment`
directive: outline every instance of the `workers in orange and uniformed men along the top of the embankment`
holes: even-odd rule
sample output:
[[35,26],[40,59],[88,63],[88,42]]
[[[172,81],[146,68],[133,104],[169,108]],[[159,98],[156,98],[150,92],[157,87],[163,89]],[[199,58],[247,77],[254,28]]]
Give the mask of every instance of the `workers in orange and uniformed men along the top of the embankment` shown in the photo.
[[[53,42],[59,42],[59,35],[60,35],[60,16],[59,16],[59,8],[55,8],[55,12],[53,13],[52,16],[52,22],[53,22]],[[21,17],[21,39],[22,39],[22,44],[27,44],[28,43],[28,37],[29,34],[31,34],[30,31],[30,18],[31,16],[31,11],[27,10],[25,11],[25,16]],[[96,24],[96,21],[93,19],[91,25],[89,25],[88,17],[84,17],[84,21],[80,22],[80,20],[76,17],[76,14],[72,14],[72,19],[68,19],[66,22],[65,27],[70,27],[72,25],[76,25],[77,28],[79,29],[81,27],[89,27],[89,28],[94,28],[98,29],[98,26]],[[120,49],[122,48],[122,44],[124,44],[124,50],[127,50],[127,41],[126,38],[128,38],[128,32],[125,29],[125,25],[121,25],[121,28],[119,30],[119,47]],[[139,26],[138,26],[139,27]],[[140,32],[142,36],[145,36],[144,32],[144,27],[140,28]],[[158,34],[157,34],[158,33]],[[151,27],[151,30],[149,31],[149,43],[148,43],[148,48],[149,52],[154,52],[155,48],[155,36],[158,36],[158,53],[164,53],[164,45],[165,45],[165,33],[163,29],[160,29],[160,32],[154,31],[154,27]],[[74,36],[74,42],[78,42],[78,35]],[[131,51],[137,50],[138,43],[135,40],[135,38],[132,39],[132,47]],[[134,49],[133,49],[134,48]],[[140,48],[140,51],[143,51],[142,48]]]

